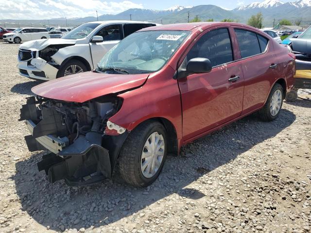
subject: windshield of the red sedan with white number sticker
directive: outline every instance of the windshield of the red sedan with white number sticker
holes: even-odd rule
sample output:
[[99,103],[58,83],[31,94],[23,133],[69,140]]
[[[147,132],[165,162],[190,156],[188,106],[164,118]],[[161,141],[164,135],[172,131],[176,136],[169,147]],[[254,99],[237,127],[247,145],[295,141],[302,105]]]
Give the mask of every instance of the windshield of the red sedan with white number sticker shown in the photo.
[[97,72],[151,73],[161,69],[190,34],[189,31],[133,33],[107,52]]

